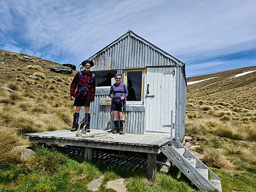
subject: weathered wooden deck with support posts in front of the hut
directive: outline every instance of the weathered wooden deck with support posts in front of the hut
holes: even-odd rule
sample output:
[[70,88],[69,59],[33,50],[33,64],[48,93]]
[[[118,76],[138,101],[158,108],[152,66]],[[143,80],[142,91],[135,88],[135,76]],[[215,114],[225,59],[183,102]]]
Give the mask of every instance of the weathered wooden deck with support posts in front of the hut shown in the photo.
[[[159,135],[141,134],[112,134],[97,137],[76,136],[77,131],[56,130],[41,133],[25,134],[29,141],[38,143],[49,143],[55,145],[85,147],[85,159],[91,160],[93,148],[112,149],[120,151],[132,151],[147,153],[148,168],[147,178],[152,181],[156,179],[157,154],[161,152],[162,146],[168,146],[170,137]],[[88,136],[103,133],[102,130],[91,129]]]

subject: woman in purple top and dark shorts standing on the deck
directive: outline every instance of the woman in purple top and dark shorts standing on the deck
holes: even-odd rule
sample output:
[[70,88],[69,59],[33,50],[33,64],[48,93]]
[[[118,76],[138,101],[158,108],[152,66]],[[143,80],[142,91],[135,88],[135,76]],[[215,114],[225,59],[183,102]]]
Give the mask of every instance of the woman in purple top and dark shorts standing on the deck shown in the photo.
[[[128,89],[124,83],[121,83],[122,75],[116,74],[114,85],[110,87],[109,96],[112,98],[111,109],[114,113],[114,131],[113,134],[123,134],[124,117],[123,112],[126,111],[126,98],[128,96]],[[118,117],[120,123],[118,124]]]

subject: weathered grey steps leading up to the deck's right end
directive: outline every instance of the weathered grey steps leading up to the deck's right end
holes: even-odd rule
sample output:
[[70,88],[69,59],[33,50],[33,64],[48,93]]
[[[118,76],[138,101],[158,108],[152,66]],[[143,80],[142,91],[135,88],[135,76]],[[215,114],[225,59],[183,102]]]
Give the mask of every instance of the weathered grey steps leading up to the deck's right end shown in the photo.
[[221,179],[195,157],[180,142],[172,141],[171,146],[162,147],[162,153],[192,181],[199,190],[222,192]]

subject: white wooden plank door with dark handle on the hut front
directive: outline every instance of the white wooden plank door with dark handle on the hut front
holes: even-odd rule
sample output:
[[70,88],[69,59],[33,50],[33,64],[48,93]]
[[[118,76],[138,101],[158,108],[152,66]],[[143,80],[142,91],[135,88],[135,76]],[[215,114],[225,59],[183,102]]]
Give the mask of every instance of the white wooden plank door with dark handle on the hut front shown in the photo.
[[175,119],[175,72],[174,67],[147,68],[145,134],[170,136]]

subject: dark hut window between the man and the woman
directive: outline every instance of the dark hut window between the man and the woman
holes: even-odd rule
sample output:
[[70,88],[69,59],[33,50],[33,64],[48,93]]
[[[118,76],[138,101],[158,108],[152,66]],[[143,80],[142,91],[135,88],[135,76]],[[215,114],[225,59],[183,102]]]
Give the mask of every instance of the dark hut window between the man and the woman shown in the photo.
[[111,86],[115,83],[115,80],[112,79],[115,77],[117,70],[111,71],[93,71],[96,77],[96,86],[103,87],[103,86]]

